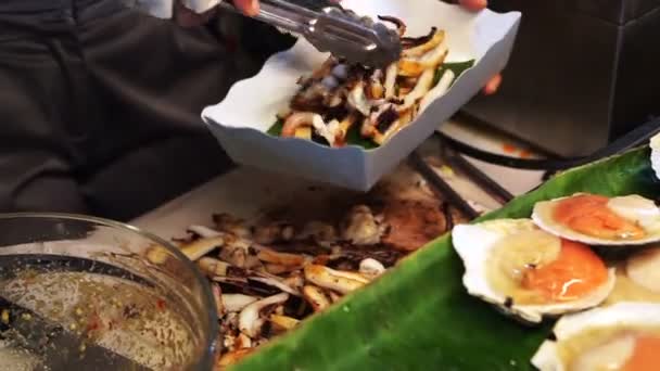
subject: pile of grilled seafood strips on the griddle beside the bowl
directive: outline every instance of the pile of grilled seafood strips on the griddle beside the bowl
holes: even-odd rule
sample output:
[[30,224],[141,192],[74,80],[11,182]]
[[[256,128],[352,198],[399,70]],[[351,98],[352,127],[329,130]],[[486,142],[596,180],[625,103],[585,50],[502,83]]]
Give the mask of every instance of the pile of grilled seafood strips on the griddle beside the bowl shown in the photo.
[[178,243],[213,282],[223,334],[218,368],[368,284],[405,254],[382,244],[382,216],[366,205],[337,225],[249,226],[228,215],[214,221],[189,227]]

